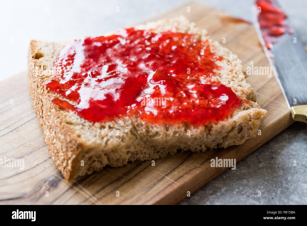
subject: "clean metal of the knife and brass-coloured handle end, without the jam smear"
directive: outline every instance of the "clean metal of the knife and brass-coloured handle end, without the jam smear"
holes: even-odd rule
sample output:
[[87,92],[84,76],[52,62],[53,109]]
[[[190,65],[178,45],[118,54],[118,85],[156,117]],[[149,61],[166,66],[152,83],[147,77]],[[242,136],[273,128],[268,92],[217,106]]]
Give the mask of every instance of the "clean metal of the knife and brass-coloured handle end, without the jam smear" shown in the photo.
[[[278,7],[280,8],[280,6]],[[291,26],[292,34],[282,34],[268,50],[258,23],[257,9],[253,11],[255,14],[254,25],[259,41],[291,109],[292,117],[294,120],[307,122],[307,54],[304,46]],[[288,18],[286,21],[292,25]],[[272,54],[274,55],[273,60]],[[299,105],[301,107],[297,108]],[[295,114],[297,115],[295,116]]]

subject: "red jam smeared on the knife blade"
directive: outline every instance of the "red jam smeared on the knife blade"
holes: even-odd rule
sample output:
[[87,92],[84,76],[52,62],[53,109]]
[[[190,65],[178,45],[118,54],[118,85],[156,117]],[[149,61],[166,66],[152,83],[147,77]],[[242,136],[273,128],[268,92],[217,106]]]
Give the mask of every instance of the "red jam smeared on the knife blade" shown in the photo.
[[266,48],[272,49],[273,44],[278,40],[278,36],[285,32],[291,34],[291,28],[286,23],[287,15],[273,0],[257,0],[256,6],[261,7],[258,22]]

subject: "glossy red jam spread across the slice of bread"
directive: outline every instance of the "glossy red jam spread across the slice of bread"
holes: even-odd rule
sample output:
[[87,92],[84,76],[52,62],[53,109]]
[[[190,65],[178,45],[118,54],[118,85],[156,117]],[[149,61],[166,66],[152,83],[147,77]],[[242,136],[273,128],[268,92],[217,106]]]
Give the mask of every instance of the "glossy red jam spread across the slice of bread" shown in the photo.
[[45,83],[52,102],[91,122],[132,116],[153,123],[205,125],[240,100],[214,79],[221,67],[208,41],[194,34],[122,29],[69,42]]

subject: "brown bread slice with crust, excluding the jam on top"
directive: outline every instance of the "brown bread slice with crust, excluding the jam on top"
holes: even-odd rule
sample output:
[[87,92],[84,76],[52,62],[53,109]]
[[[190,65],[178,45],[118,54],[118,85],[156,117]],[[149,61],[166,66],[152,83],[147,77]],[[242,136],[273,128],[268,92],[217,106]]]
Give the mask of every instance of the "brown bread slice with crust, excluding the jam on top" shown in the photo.
[[50,98],[59,96],[44,85],[52,75],[52,63],[67,42],[31,41],[28,56],[30,96],[52,159],[66,180],[99,171],[106,165],[116,167],[129,161],[157,159],[178,150],[199,152],[226,148],[256,136],[266,110],[256,102],[256,94],[247,83],[241,61],[235,54],[185,17],[150,22],[135,26],[135,29],[159,32],[175,27],[177,32],[196,34],[198,39],[211,42],[215,54],[223,57],[216,61],[222,69],[217,71],[215,79],[231,87],[241,100],[249,100],[226,119],[205,126],[187,122],[155,124],[128,116],[92,123],[53,104]]

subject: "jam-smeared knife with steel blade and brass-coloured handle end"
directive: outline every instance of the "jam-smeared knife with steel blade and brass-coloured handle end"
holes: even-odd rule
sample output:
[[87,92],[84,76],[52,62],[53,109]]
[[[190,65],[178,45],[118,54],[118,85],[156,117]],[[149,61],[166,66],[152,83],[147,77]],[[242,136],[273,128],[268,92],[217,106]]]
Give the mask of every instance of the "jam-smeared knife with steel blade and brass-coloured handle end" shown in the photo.
[[[261,12],[258,12],[259,6],[262,6]],[[275,13],[269,12],[268,16],[263,17],[263,13],[266,13],[268,9]],[[275,78],[282,89],[292,118],[295,121],[307,123],[307,54],[304,46],[293,26],[291,26],[289,18],[283,14],[282,8],[274,0],[256,1],[253,13],[255,15],[254,26],[259,41],[272,67]],[[283,26],[276,26],[275,24],[272,29],[273,32],[271,32],[273,34],[271,37],[273,42],[268,42],[268,39],[270,40],[270,37],[268,38],[268,29],[270,29],[272,23],[274,24],[274,18],[271,18],[267,24],[263,21],[263,18],[265,20],[265,18],[270,18],[274,14],[278,17],[278,13],[285,16],[282,20],[276,20]],[[262,16],[259,16],[259,14],[262,14]],[[286,31],[286,26],[289,26],[289,32]],[[274,30],[278,31],[278,28],[285,32],[283,34],[274,34]]]

